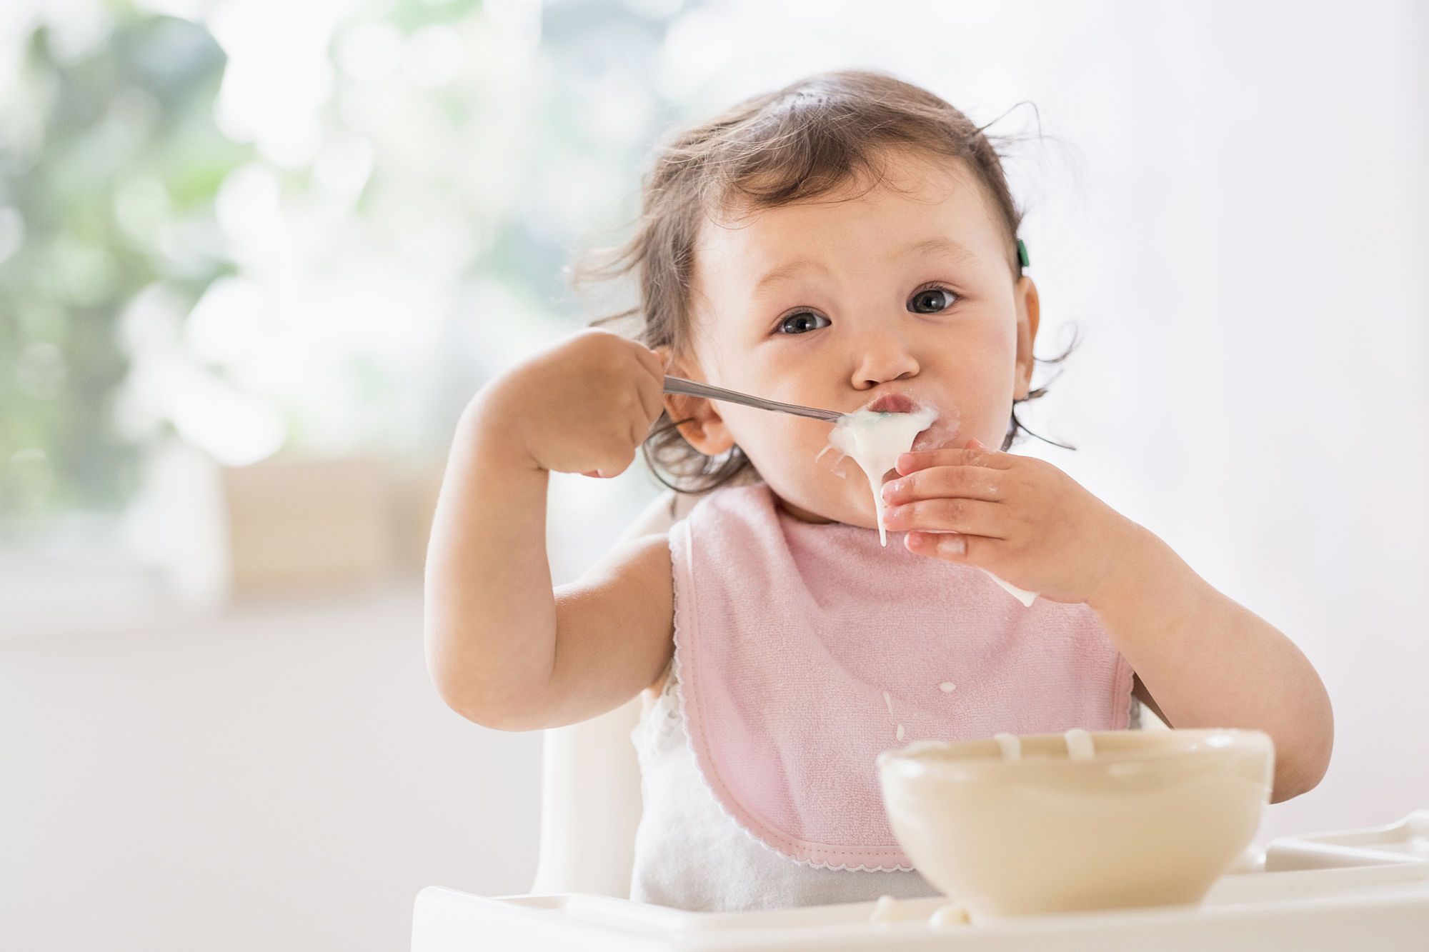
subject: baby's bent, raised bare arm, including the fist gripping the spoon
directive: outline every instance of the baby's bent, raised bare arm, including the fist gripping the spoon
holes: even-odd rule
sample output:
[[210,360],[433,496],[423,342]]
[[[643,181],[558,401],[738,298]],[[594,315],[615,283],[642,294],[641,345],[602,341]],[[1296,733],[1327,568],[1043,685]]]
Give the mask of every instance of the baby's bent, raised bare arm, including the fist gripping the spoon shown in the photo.
[[660,413],[663,367],[603,332],[503,375],[463,413],[427,549],[427,668],[443,700],[503,730],[573,723],[636,696],[670,653],[664,536],[552,587],[549,470],[622,472]]

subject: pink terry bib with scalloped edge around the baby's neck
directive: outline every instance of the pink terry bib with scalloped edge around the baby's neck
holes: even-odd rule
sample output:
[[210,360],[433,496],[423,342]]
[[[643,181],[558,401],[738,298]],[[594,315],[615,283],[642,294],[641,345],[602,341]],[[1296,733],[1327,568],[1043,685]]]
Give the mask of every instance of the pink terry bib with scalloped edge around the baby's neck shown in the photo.
[[880,750],[1127,726],[1132,669],[1090,608],[1025,608],[903,533],[885,549],[876,529],[800,522],[757,483],[700,500],[670,556],[694,759],[740,826],[802,863],[913,868],[883,812]]

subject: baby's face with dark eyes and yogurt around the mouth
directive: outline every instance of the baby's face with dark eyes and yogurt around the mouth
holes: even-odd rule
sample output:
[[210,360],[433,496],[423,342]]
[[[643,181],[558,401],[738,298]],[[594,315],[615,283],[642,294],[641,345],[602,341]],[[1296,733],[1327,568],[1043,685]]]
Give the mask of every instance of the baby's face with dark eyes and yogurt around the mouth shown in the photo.
[[[940,413],[917,449],[1000,446],[1030,382],[1037,300],[993,207],[960,164],[916,154],[892,156],[887,182],[866,189],[706,222],[692,354],[672,373],[842,412],[902,395]],[[877,525],[857,465],[815,462],[830,423],[730,403],[700,413],[700,449],[737,443],[796,515]]]

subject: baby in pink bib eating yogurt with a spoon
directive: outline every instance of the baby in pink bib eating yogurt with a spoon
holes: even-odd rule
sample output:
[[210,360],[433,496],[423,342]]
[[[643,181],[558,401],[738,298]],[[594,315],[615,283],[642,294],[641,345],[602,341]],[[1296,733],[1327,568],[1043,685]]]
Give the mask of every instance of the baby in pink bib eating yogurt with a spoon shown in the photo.
[[[933,895],[877,792],[873,759],[902,742],[1132,728],[1146,705],[1175,728],[1269,733],[1273,800],[1323,776],[1330,703],[1295,645],[1060,469],[1006,452],[1015,405],[1040,396],[1019,223],[959,110],[877,73],[809,77],[657,154],[607,269],[637,277],[639,342],[577,333],[463,413],[427,559],[433,680],[502,730],[652,692],[632,735],[632,899]],[[853,460],[816,462],[830,423],[666,396],[667,373],[936,409],[876,476],[887,547]],[[549,473],[614,476],[642,446],[697,503],[553,590]]]

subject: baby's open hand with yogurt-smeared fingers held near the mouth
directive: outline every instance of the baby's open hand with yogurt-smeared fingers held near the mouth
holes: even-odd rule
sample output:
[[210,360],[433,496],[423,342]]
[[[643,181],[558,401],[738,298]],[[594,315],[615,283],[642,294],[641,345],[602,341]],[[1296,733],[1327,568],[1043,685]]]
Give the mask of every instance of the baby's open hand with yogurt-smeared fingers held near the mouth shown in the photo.
[[883,523],[909,552],[973,565],[1053,602],[1090,602],[1136,557],[1139,525],[1060,469],[966,449],[905,453],[883,485]]

